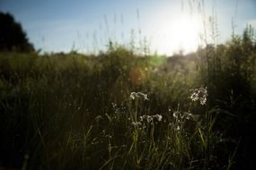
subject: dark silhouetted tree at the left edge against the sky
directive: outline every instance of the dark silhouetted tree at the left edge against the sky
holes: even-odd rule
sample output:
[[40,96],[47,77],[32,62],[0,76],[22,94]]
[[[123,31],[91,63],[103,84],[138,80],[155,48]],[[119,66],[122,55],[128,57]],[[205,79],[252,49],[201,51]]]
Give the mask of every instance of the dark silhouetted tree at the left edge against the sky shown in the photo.
[[15,21],[10,13],[0,12],[0,51],[32,52],[33,45],[29,42],[22,25]]

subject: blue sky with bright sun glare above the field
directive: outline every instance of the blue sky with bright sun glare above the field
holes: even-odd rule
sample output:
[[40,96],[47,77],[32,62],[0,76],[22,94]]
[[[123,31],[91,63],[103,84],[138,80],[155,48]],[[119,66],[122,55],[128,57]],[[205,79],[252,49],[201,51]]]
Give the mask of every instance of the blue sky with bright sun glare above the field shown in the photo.
[[256,0],[0,0],[0,11],[43,52],[97,53],[111,41],[172,55],[256,28]]

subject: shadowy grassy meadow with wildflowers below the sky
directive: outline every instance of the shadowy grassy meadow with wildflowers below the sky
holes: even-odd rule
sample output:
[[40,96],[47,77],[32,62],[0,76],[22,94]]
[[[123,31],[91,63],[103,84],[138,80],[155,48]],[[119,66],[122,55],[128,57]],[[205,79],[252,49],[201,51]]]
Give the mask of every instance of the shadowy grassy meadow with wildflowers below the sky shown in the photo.
[[0,53],[0,169],[255,168],[251,29],[190,55]]

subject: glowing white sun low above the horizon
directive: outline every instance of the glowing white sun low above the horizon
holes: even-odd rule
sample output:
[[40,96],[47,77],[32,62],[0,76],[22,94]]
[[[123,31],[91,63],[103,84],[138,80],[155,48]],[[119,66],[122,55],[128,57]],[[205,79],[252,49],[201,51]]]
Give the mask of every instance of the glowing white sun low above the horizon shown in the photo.
[[190,53],[199,47],[202,23],[199,18],[180,15],[157,21],[153,47],[158,54]]

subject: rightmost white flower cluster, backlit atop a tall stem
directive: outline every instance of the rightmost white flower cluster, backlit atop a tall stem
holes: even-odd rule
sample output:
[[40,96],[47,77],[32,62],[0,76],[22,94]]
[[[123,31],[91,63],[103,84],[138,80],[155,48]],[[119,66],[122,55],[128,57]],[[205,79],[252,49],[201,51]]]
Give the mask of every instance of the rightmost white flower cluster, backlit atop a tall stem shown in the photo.
[[200,101],[201,105],[206,105],[207,103],[207,88],[192,89],[192,94],[190,95],[192,101]]

